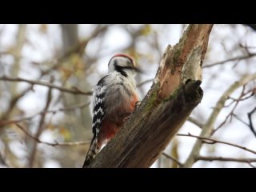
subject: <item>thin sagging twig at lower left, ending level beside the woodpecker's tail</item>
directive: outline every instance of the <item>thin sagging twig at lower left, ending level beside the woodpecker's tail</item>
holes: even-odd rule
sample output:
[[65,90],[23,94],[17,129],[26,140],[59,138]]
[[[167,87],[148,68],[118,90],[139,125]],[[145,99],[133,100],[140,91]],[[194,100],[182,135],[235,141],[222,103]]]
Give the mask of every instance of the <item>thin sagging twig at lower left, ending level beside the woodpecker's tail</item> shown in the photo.
[[34,141],[38,143],[45,144],[47,146],[81,146],[81,145],[89,145],[90,141],[87,142],[42,142],[39,138],[35,138],[31,135],[23,126],[19,125],[18,123],[15,124],[21,129],[29,138],[32,138]]

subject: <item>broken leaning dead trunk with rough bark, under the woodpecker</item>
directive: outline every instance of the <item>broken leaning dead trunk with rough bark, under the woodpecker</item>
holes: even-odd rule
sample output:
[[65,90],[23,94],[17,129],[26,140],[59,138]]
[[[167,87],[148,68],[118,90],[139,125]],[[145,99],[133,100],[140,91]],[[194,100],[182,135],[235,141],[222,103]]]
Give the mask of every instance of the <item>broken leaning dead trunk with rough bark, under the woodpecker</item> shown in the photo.
[[213,25],[190,25],[167,46],[146,97],[88,167],[150,167],[201,102],[202,61]]

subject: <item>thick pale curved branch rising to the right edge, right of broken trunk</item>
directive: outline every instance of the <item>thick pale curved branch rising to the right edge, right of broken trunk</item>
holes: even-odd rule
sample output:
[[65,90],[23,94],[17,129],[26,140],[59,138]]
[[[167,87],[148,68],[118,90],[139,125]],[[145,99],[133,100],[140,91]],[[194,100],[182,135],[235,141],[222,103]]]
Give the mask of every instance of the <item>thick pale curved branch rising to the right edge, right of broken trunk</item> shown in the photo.
[[[224,94],[222,94],[222,97],[219,98],[216,106],[214,107],[214,110],[210,114],[210,118],[208,118],[208,121],[204,126],[202,126],[202,132],[200,134],[200,137],[207,138],[210,136],[212,130],[214,129],[214,123],[216,119],[218,118],[218,114],[222,110],[222,108],[225,105],[226,100],[230,97],[230,94],[232,94],[235,90],[237,90],[240,86],[246,85],[248,82],[256,79],[256,73],[255,74],[248,74],[244,77],[242,77],[238,82],[234,82],[230,88],[228,88]],[[201,150],[202,147],[202,140],[198,139],[194,146],[193,149],[190,152],[190,155],[186,159],[186,162],[184,163],[184,167],[191,167],[194,164],[195,157],[198,156],[199,151]]]

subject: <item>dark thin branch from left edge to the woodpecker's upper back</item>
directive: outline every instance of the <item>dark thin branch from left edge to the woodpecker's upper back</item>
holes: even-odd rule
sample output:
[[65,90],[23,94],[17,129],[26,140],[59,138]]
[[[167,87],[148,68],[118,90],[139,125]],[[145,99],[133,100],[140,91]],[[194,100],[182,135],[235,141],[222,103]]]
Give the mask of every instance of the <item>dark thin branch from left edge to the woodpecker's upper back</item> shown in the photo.
[[30,85],[32,86],[34,85],[47,86],[49,88],[60,90],[62,92],[66,92],[70,94],[85,94],[85,95],[92,94],[91,91],[85,92],[85,91],[79,90],[77,87],[73,87],[73,89],[67,89],[67,88],[63,88],[62,86],[55,86],[50,82],[40,82],[40,81],[30,80],[26,78],[10,78],[10,77],[3,76],[3,77],[0,77],[0,80],[8,81],[8,82],[27,82],[27,83],[30,83]]

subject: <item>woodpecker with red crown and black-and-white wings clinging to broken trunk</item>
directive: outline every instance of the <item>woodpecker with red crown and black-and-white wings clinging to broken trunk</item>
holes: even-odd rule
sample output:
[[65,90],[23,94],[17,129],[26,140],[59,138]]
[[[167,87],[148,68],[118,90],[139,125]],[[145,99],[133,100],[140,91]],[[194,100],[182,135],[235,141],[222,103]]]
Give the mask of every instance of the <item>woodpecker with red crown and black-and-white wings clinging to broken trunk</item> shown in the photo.
[[138,102],[134,59],[126,54],[116,54],[108,63],[108,74],[94,89],[90,110],[93,118],[93,138],[83,167],[88,166],[102,145],[114,138],[126,118],[133,113]]

